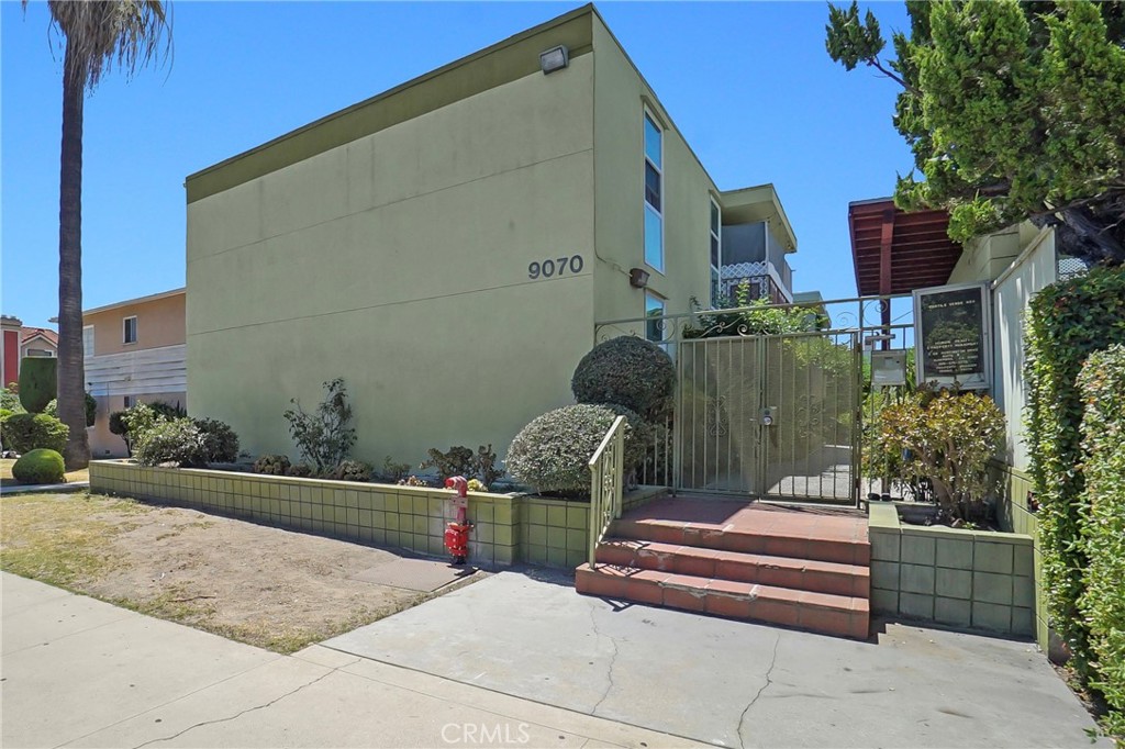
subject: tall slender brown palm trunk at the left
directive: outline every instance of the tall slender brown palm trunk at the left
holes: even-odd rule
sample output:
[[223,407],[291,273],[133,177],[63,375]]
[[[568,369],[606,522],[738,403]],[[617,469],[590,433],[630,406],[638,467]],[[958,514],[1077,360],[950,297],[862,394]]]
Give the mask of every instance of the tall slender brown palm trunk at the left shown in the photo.
[[82,361],[82,107],[86,63],[68,43],[63,62],[63,143],[58,190],[58,418],[70,427],[68,470],[90,462]]

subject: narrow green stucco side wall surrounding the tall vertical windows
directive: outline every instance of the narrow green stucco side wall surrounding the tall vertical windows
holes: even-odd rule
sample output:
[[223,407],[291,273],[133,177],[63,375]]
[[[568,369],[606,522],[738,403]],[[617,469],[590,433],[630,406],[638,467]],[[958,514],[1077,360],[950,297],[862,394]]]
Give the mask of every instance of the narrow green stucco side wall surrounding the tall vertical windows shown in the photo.
[[[595,319],[645,315],[645,292],[629,286],[629,269],[650,272],[649,290],[668,313],[688,310],[695,296],[710,301],[710,197],[718,195],[706,172],[657,101],[655,93],[594,17],[594,141],[596,144]],[[645,264],[645,107],[664,126],[665,271]]]

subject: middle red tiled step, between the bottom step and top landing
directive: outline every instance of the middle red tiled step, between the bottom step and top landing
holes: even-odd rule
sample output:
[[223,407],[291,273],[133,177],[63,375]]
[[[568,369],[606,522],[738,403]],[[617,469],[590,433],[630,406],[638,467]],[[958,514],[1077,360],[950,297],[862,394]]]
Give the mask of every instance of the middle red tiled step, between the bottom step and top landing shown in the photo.
[[750,554],[658,541],[606,539],[597,547],[597,561],[618,567],[862,598],[867,598],[871,590],[871,569],[862,565]]

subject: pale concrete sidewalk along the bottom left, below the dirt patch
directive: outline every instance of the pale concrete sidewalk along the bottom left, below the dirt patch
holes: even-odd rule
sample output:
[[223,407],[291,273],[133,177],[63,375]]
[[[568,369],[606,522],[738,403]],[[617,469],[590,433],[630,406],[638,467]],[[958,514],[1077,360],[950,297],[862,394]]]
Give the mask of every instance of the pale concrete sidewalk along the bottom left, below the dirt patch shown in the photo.
[[9,574],[0,595],[3,747],[691,746],[321,646],[279,656]]

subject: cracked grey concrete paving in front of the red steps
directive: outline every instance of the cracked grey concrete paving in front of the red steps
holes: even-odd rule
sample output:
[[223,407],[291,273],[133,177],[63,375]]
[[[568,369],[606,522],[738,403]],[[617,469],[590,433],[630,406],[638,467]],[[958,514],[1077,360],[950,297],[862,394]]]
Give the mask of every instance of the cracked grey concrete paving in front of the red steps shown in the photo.
[[901,624],[856,642],[584,597],[547,572],[322,644],[727,747],[1089,747],[1095,727],[1030,642]]

